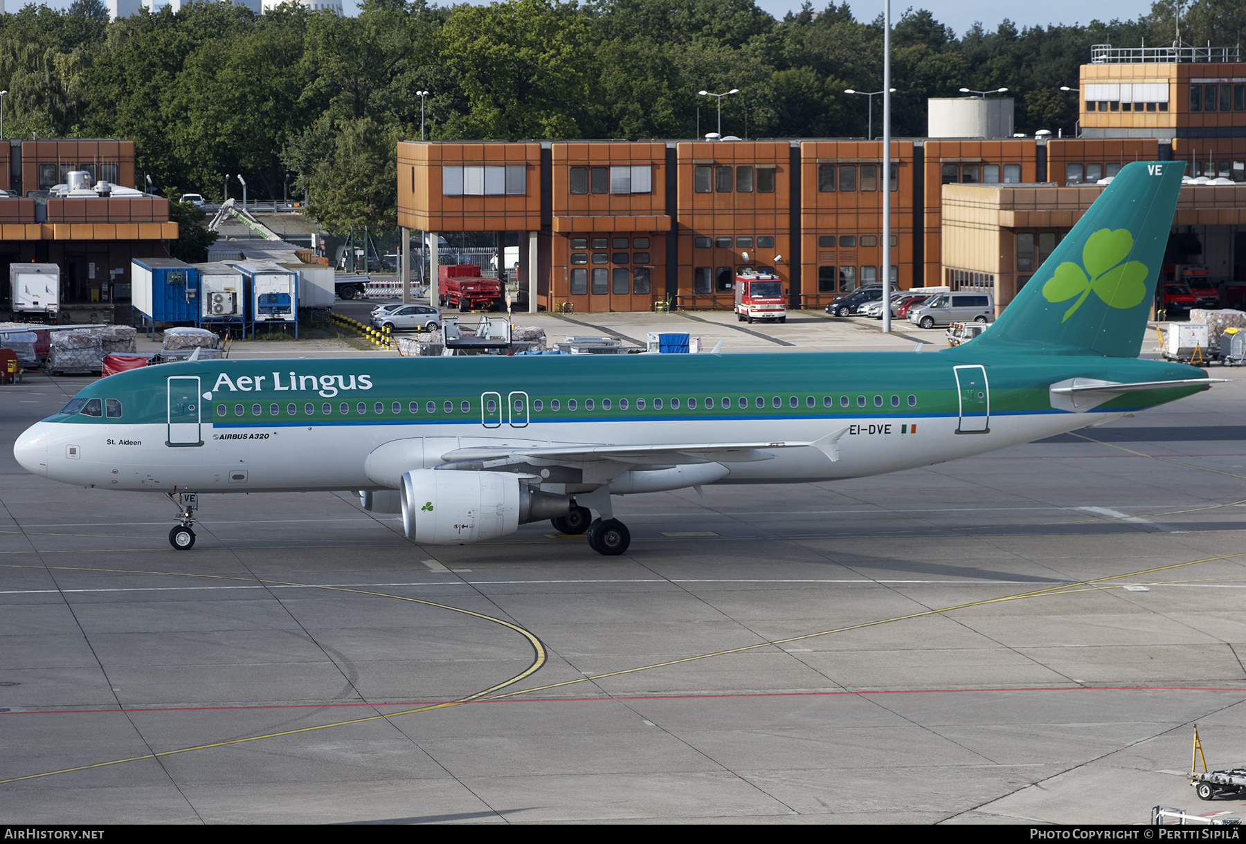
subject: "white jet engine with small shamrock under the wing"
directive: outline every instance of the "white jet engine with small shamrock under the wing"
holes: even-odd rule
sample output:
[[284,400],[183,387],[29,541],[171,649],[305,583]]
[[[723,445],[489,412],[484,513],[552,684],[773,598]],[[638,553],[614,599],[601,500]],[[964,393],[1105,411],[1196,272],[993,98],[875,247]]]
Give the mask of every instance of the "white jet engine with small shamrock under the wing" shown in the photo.
[[429,545],[467,545],[521,524],[567,515],[566,495],[532,489],[506,472],[414,469],[399,488],[406,535]]

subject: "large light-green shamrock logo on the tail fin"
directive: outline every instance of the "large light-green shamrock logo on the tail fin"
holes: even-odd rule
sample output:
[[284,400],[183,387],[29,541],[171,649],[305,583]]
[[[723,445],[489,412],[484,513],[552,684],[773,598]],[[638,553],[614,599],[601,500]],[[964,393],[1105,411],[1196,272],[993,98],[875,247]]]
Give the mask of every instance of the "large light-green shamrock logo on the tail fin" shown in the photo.
[[1062,322],[1082,307],[1091,290],[1108,307],[1133,307],[1143,301],[1150,270],[1141,261],[1124,263],[1133,248],[1134,235],[1128,229],[1099,229],[1082,250],[1084,271],[1073,261],[1055,268],[1055,275],[1043,285],[1043,298],[1057,302],[1078,296],[1073,306],[1064,311]]

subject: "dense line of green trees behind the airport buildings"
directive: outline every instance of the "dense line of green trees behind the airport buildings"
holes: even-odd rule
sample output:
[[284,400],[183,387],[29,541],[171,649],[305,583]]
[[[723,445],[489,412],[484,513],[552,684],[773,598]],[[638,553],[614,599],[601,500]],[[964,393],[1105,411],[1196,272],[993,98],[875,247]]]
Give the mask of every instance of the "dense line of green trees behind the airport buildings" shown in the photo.
[[[1171,44],[1175,2],[1133,21],[957,35],[925,10],[892,29],[892,134],[926,133],[927,97],[1008,87],[1015,127],[1072,131],[1090,45]],[[1182,4],[1181,40],[1232,46],[1240,0]],[[882,87],[881,17],[847,4],[771,17],[754,0],[364,0],[358,17],[228,0],[110,22],[100,0],[0,16],[6,137],[135,141],[140,181],[222,197],[289,192],[331,232],[395,225],[395,146],[431,139],[865,137]],[[875,131],[881,105],[875,103]],[[239,192],[234,183],[234,193]]]

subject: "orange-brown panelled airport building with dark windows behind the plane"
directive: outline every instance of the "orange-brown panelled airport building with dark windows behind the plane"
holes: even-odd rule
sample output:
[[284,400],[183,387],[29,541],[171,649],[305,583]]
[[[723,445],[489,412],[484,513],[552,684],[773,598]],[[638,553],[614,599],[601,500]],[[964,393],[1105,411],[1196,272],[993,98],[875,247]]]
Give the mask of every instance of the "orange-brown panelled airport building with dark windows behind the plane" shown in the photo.
[[405,141],[399,225],[520,232],[521,286],[535,276],[542,309],[730,309],[741,266],[816,307],[882,280],[886,189],[898,288],[988,291],[1002,307],[1100,179],[1184,161],[1201,178],[1181,192],[1166,264],[1205,266],[1225,299],[1246,299],[1239,51],[1098,46],[1080,76],[1080,137],[989,137],[1011,134],[1011,102],[956,98],[948,120],[932,101],[931,134],[958,137],[893,139],[886,174],[881,141]]

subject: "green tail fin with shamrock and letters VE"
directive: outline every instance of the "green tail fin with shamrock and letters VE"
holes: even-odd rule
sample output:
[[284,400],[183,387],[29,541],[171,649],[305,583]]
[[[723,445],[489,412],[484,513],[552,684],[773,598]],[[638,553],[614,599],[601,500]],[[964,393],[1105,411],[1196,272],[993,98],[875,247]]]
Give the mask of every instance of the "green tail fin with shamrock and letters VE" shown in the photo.
[[1138,357],[1184,172],[1125,164],[974,351]]

